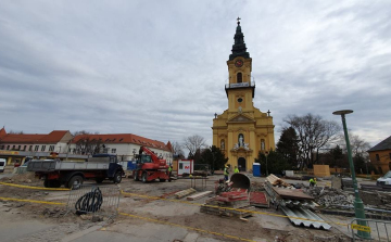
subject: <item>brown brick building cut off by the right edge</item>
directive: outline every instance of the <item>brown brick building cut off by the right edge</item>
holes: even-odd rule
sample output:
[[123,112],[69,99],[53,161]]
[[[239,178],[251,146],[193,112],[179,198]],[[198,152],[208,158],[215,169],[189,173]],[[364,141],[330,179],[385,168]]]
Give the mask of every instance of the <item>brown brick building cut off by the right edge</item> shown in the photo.
[[373,166],[380,173],[391,170],[391,136],[368,150]]

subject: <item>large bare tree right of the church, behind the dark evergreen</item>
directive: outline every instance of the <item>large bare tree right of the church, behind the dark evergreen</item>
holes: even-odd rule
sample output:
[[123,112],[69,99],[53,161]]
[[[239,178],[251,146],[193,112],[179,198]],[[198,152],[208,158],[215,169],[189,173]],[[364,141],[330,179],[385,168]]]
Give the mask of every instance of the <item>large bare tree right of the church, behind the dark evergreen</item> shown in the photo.
[[325,120],[319,115],[289,115],[283,120],[298,133],[301,167],[313,165],[314,152],[318,154],[323,147],[338,140],[337,135],[341,130],[336,122]]

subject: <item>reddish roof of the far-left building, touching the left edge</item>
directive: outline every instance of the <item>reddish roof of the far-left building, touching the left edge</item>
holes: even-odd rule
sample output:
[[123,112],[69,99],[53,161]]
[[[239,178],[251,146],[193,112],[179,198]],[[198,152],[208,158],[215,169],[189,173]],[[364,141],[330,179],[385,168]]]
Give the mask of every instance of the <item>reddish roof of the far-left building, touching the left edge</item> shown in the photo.
[[41,133],[7,133],[0,137],[1,143],[58,143],[67,130],[53,130],[48,135]]

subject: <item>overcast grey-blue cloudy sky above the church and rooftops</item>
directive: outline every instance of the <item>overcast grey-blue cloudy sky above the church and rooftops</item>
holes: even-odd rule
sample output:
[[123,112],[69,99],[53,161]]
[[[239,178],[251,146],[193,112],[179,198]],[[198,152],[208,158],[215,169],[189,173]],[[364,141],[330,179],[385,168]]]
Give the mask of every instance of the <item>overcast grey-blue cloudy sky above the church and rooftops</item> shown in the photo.
[[371,145],[391,135],[391,1],[15,1],[0,3],[0,126],[212,144],[236,18],[254,105],[341,122]]

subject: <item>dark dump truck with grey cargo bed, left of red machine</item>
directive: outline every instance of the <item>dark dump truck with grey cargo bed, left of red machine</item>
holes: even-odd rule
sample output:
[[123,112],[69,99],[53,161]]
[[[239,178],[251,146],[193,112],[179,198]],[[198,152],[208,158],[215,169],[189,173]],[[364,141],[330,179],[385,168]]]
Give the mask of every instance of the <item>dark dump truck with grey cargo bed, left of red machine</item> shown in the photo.
[[109,179],[115,183],[122,180],[124,169],[116,155],[94,154],[84,162],[53,160],[31,160],[27,164],[27,171],[35,171],[43,179],[46,188],[78,189],[84,180],[94,179],[97,183]]

